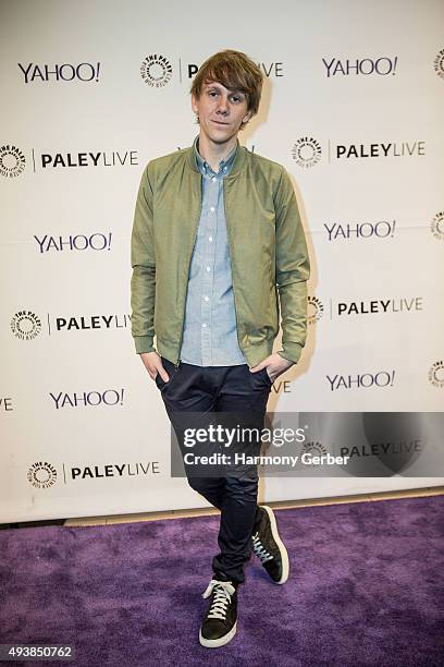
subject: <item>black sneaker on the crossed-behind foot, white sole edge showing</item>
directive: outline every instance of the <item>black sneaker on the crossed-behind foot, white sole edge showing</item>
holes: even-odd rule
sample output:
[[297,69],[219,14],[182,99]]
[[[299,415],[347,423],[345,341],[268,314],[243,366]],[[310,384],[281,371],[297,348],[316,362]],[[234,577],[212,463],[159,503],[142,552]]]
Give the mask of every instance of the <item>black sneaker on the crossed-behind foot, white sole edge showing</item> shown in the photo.
[[279,536],[276,519],[271,507],[259,506],[252,531],[252,550],[274,583],[288,579],[288,554]]

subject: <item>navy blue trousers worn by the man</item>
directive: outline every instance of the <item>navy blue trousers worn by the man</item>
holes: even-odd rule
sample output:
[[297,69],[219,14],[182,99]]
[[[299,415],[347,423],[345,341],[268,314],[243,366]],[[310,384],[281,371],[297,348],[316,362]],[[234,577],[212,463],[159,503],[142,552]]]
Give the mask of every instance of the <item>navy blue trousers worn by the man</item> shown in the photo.
[[[223,413],[224,417],[233,415],[233,424],[236,422],[239,426],[263,428],[272,386],[266,368],[250,373],[246,364],[195,366],[182,362],[175,368],[164,357],[162,363],[170,379],[165,383],[158,374],[156,384],[183,456],[189,452],[189,447],[184,444],[184,433],[192,421],[196,424],[196,415],[200,415],[198,421],[201,426],[208,422],[214,423],[209,415]],[[250,444],[247,453],[259,453],[260,445],[260,440]],[[206,450],[206,444],[199,446],[200,453],[202,450]],[[208,444],[208,453],[214,451],[214,446]],[[219,451],[224,451],[224,448],[219,447]],[[223,466],[223,473],[212,472],[206,476],[195,476],[190,469],[185,465],[192,488],[221,511],[218,535],[220,553],[213,558],[213,572],[219,579],[243,583],[244,566],[251,555],[251,534],[258,507],[257,465],[227,464]]]

